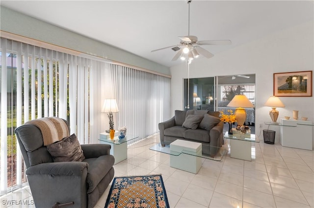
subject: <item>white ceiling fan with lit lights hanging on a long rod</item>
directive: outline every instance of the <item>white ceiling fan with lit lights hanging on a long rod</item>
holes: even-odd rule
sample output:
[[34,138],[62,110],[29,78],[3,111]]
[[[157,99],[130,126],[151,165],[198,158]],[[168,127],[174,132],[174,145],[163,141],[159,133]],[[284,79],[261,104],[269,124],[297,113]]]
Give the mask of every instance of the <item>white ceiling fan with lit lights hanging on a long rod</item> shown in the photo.
[[168,46],[159,48],[156,50],[152,50],[151,52],[155,52],[158,50],[163,50],[167,48],[171,48],[174,51],[178,51],[176,55],[173,57],[172,61],[176,61],[179,57],[182,60],[188,58],[189,60],[193,60],[197,58],[199,55],[203,55],[206,58],[213,57],[213,54],[208,50],[204,49],[201,46],[205,45],[231,45],[230,40],[207,40],[207,41],[198,41],[196,36],[190,35],[190,3],[191,0],[187,1],[188,3],[188,35],[184,37],[179,37],[180,44],[174,46]]

